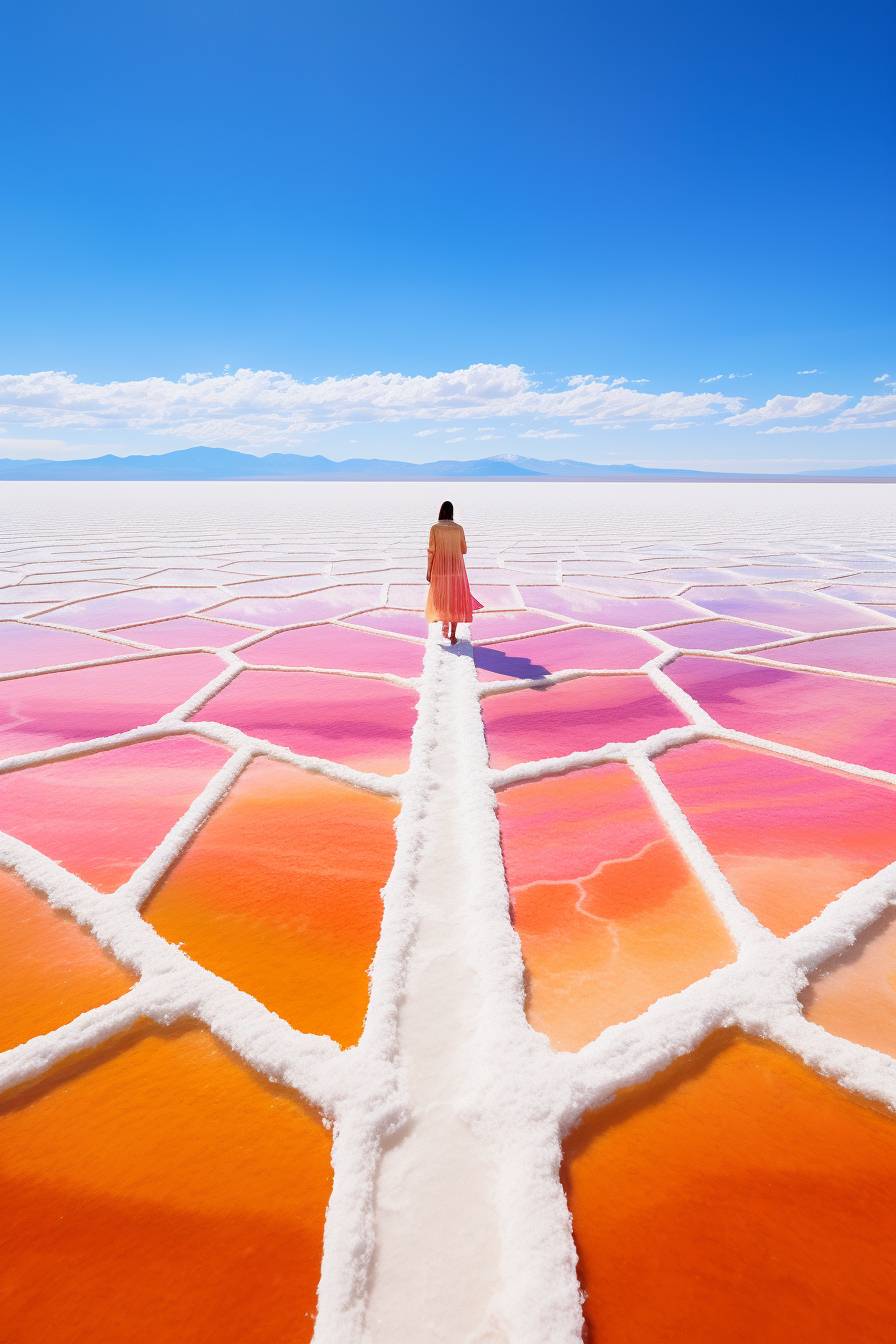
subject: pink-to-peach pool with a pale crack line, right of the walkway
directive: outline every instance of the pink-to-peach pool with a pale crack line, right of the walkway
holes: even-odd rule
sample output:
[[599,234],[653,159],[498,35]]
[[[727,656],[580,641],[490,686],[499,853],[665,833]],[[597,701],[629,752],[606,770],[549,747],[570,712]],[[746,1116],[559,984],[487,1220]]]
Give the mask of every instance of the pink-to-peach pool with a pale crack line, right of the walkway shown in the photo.
[[527,1012],[578,1050],[732,960],[733,948],[627,766],[500,794]]

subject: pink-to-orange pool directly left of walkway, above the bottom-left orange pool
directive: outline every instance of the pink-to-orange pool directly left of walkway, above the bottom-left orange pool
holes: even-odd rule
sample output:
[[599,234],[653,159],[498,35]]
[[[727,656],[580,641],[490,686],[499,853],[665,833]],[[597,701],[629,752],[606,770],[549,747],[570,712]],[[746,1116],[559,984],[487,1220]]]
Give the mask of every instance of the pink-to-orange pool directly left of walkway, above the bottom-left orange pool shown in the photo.
[[200,965],[353,1044],[395,853],[391,798],[257,761],[146,907]]

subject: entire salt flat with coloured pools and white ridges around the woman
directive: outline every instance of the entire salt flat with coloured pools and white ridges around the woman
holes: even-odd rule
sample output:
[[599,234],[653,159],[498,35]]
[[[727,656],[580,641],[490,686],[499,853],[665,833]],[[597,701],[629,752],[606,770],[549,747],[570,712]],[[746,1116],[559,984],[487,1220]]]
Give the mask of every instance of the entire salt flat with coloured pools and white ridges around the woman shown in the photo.
[[7,487],[15,1337],[892,1333],[891,500]]

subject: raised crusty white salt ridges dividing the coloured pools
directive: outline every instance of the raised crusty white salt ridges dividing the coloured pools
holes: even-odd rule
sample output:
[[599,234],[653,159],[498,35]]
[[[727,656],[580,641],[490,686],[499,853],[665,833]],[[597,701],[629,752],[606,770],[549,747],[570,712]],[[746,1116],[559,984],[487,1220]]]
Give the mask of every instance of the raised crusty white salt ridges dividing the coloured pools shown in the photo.
[[[207,544],[211,547],[215,542],[210,540]],[[8,550],[17,555],[40,548],[26,544]],[[78,552],[78,548],[71,550],[73,554]],[[150,548],[144,547],[144,554]],[[505,552],[509,550],[512,544],[496,555],[498,566],[505,563]],[[169,555],[171,551],[173,543],[161,554]],[[332,554],[339,558],[339,552]],[[690,554],[693,556],[693,548]],[[732,554],[736,556],[736,550]],[[754,554],[754,563],[771,560],[776,554],[774,550],[760,548]],[[819,548],[811,554],[821,555],[822,551]],[[870,550],[868,554],[875,560],[893,560],[891,554]],[[130,556],[133,558],[133,552]],[[122,555],[122,559],[126,558]],[[836,558],[836,552],[830,552],[827,558]],[[506,559],[513,563],[510,556]],[[700,554],[699,559],[705,560],[707,552]],[[850,569],[844,573],[861,571]],[[562,562],[557,560],[556,581],[560,578]],[[513,591],[519,597],[519,590]],[[386,597],[383,589],[382,598]],[[832,602],[848,609],[853,621],[857,614],[864,614],[856,603],[833,594],[829,597]],[[695,609],[686,624],[695,620],[719,620],[715,613],[708,613],[686,598],[684,601]],[[207,610],[197,607],[193,613],[181,614],[201,617]],[[214,618],[226,620],[216,614]],[[756,657],[756,653],[763,648],[833,637],[834,633],[807,634],[737,620],[742,625],[754,625],[758,630],[780,636],[752,646],[751,656],[740,661],[771,663]],[[20,624],[27,625],[30,621],[23,620]],[[50,625],[47,621],[39,624],[42,628]],[[231,624],[251,625],[244,621]],[[328,622],[316,620],[277,628],[259,626],[257,633],[239,641],[239,646],[247,646],[283,629],[320,624]],[[591,625],[587,621],[575,624]],[[451,726],[451,769],[462,781],[462,788],[455,793],[454,818],[463,836],[463,848],[457,859],[462,880],[454,898],[461,911],[458,929],[462,933],[465,968],[473,977],[470,984],[476,982],[480,1001],[474,1028],[463,1043],[465,1067],[457,1093],[457,1110],[476,1136],[484,1161],[492,1171],[490,1200],[500,1230],[500,1254],[496,1263],[489,1266],[490,1277],[485,1275],[486,1282],[492,1284],[484,1314],[484,1331],[488,1333],[477,1335],[477,1339],[508,1340],[513,1344],[544,1344],[545,1340],[552,1344],[572,1344],[580,1340],[583,1318],[576,1255],[559,1167],[563,1138],[587,1110],[606,1105],[623,1087],[647,1081],[674,1059],[695,1050],[713,1031],[727,1027],[739,1027],[750,1035],[772,1040],[842,1087],[896,1109],[896,1062],[879,1051],[836,1038],[807,1021],[798,997],[809,974],[848,949],[896,902],[896,863],[842,892],[797,933],[776,938],[736,899],[652,762],[662,753],[688,742],[711,738],[889,785],[896,785],[896,775],[720,727],[665,672],[678,656],[672,642],[674,624],[666,622],[650,632],[600,625],[596,628],[637,633],[660,650],[637,675],[650,677],[656,688],[680,708],[689,726],[669,728],[641,742],[606,743],[599,750],[527,762],[509,770],[489,767],[480,700],[531,684],[543,685],[572,676],[595,675],[603,669],[564,669],[541,681],[508,687],[480,684],[470,645],[462,641],[457,650],[449,652],[431,636],[423,673],[418,680],[388,675],[377,677],[419,689],[408,769],[404,775],[390,778],[304,757],[220,723],[195,719],[184,722],[246,667],[238,652],[203,649],[201,652],[215,653],[222,661],[220,673],[157,723],[109,738],[0,761],[0,773],[5,773],[180,734],[203,737],[232,753],[154,852],[113,895],[94,891],[23,841],[11,836],[0,837],[0,866],[17,872],[51,906],[66,911],[89,929],[111,956],[138,977],[136,985],[113,1003],[1,1052],[0,1089],[32,1079],[73,1054],[90,1051],[140,1019],[169,1024],[192,1017],[206,1023],[253,1068],[292,1087],[314,1105],[332,1126],[333,1192],[326,1215],[314,1340],[317,1344],[380,1344],[382,1337],[376,1336],[375,1324],[367,1318],[371,1267],[377,1243],[376,1173],[383,1145],[400,1145],[403,1134],[412,1133],[419,1118],[408,1093],[408,1042],[402,1025],[402,1004],[408,962],[422,937],[422,921],[430,918],[420,900],[419,882],[427,843],[438,824],[437,794],[443,782],[439,774],[446,767],[447,722]],[[880,630],[887,624],[881,620],[869,626],[866,620],[862,624],[854,621],[849,630]],[[568,628],[568,622],[562,626]],[[102,632],[89,633],[102,637]],[[386,632],[376,633],[386,636]],[[525,632],[520,637],[531,633]],[[118,636],[114,638],[118,640]],[[505,637],[509,638],[513,636]],[[504,640],[496,637],[492,642]],[[136,641],[129,644],[134,650],[132,657],[163,656]],[[688,656],[737,660],[736,650],[721,655],[681,652]],[[164,656],[176,655],[165,652]],[[81,665],[93,664],[71,667]],[[778,663],[771,665],[782,667]],[[818,671],[809,667],[805,669]],[[47,671],[36,668],[15,675]],[[613,675],[635,672],[633,669],[631,673]],[[854,680],[892,680],[830,673],[827,669],[825,675]],[[326,1036],[294,1030],[250,995],[192,962],[179,948],[163,939],[140,914],[140,907],[165,872],[249,762],[257,757],[322,773],[353,788],[400,798],[402,802],[396,821],[395,864],[383,891],[383,923],[371,966],[368,1013],[359,1043],[348,1050],[340,1050]],[[582,1050],[560,1052],[553,1051],[547,1039],[528,1025],[524,1015],[523,961],[517,935],[508,918],[496,790],[604,761],[626,762],[637,774],[668,833],[725,923],[736,958],[686,989],[657,1000],[633,1021],[606,1028]],[[423,1154],[426,1156],[426,1148]],[[438,1153],[430,1156],[433,1161],[439,1159]],[[415,1207],[408,1208],[407,1216],[438,1220],[441,1210]],[[424,1270],[424,1265],[415,1266],[412,1262],[406,1266],[407,1275]],[[392,1284],[391,1290],[400,1294],[402,1282]],[[450,1339],[450,1302],[445,1305],[449,1310],[449,1333],[445,1337]],[[416,1337],[422,1341],[442,1336],[420,1331]]]

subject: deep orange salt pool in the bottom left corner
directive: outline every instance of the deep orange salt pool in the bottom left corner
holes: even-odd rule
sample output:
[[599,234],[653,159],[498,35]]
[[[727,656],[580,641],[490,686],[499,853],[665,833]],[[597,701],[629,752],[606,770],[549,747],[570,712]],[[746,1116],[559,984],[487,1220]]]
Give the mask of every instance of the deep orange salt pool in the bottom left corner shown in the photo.
[[0,1335],[310,1339],[329,1138],[196,1027],[136,1027],[0,1099]]

